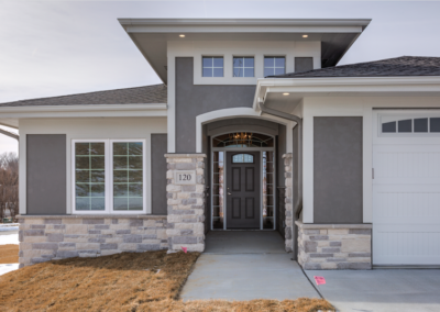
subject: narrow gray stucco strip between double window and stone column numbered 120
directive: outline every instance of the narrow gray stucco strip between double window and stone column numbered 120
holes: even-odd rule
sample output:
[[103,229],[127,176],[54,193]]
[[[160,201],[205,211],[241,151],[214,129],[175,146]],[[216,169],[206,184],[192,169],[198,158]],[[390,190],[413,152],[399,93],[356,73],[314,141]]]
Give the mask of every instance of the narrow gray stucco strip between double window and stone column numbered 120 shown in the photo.
[[167,214],[166,158],[167,134],[151,135],[152,214]]

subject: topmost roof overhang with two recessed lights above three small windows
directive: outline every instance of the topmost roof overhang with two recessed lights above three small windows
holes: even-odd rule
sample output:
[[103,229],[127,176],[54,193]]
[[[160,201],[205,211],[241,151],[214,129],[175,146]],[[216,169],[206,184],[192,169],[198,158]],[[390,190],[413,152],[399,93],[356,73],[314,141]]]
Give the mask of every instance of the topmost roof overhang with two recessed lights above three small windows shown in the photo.
[[[119,19],[119,22],[166,83],[168,41],[319,41],[322,67],[329,67],[338,64],[371,20]],[[304,38],[304,34],[308,37]]]

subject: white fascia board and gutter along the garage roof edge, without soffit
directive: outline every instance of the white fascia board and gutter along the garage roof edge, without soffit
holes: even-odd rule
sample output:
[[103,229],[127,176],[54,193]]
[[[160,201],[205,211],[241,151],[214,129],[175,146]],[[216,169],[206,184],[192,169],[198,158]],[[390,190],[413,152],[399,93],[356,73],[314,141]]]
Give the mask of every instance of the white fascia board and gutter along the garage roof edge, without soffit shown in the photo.
[[256,83],[254,110],[260,110],[257,101],[268,92],[440,92],[440,76],[261,78]]

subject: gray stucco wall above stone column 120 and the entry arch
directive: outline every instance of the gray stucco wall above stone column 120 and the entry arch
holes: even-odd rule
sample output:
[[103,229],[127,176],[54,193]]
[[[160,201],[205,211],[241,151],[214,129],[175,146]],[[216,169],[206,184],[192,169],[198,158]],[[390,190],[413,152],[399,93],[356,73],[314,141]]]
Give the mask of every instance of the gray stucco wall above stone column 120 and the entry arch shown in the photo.
[[255,93],[255,86],[195,86],[193,64],[193,57],[176,57],[176,153],[196,153],[197,115],[251,108]]

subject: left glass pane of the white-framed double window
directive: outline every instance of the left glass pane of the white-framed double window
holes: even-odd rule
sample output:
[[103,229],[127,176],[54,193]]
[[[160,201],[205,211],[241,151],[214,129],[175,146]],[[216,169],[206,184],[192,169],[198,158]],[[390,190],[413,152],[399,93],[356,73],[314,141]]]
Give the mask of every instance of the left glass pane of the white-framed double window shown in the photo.
[[75,143],[76,210],[106,209],[105,143]]

